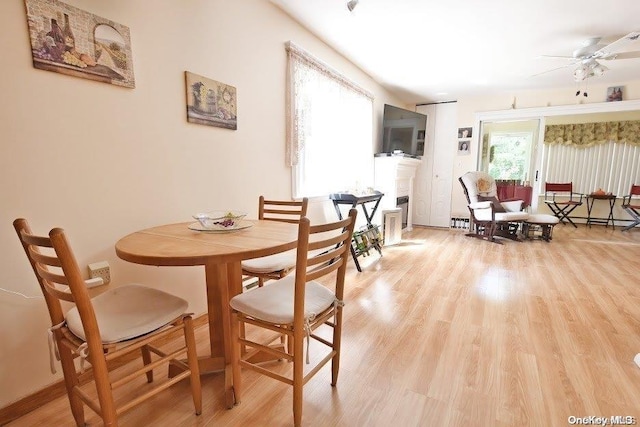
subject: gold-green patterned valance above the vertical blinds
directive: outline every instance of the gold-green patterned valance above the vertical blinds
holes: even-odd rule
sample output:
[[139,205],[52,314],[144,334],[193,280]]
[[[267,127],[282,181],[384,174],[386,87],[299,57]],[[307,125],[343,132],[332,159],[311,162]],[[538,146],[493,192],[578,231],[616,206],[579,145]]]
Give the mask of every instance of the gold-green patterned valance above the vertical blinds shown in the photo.
[[607,142],[640,146],[640,120],[547,125],[544,143],[592,147]]

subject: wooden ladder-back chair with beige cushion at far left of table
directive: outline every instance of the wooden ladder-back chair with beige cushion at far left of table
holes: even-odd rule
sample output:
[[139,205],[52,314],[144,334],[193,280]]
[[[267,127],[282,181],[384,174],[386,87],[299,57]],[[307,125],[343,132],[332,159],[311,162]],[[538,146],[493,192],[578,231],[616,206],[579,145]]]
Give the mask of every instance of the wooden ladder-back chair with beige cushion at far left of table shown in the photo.
[[[118,416],[124,411],[187,377],[199,415],[202,392],[193,323],[191,315],[185,314],[187,301],[135,284],[111,288],[91,299],[61,228],[52,229],[48,236],[38,236],[31,232],[25,219],[16,219],[13,225],[49,309],[51,369],[55,373],[55,354],[62,364],[76,425],[85,425],[83,403],[102,418],[105,426],[117,426]],[[65,313],[61,301],[75,306]],[[184,344],[174,348],[178,334],[183,336]],[[161,350],[159,341],[170,344],[171,349]],[[142,363],[134,368],[130,362],[138,351]],[[179,359],[185,354],[186,363]],[[80,358],[80,373],[76,371],[76,358]],[[82,373],[85,362],[91,369]],[[177,368],[177,374],[154,382],[153,370],[169,364]],[[128,391],[116,399],[116,388],[142,374],[153,386],[135,386],[139,392],[135,394],[132,387],[127,387]],[[89,382],[94,384],[94,390]]]

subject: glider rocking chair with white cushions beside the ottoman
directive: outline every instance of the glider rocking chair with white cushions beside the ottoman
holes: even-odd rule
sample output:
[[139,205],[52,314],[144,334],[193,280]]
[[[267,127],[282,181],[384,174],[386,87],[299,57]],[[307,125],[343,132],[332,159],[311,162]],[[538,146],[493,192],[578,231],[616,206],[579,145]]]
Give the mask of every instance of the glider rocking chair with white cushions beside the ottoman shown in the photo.
[[496,237],[520,240],[518,230],[529,214],[522,211],[524,202],[498,200],[496,181],[482,171],[467,172],[459,178],[471,213],[470,237],[501,243]]

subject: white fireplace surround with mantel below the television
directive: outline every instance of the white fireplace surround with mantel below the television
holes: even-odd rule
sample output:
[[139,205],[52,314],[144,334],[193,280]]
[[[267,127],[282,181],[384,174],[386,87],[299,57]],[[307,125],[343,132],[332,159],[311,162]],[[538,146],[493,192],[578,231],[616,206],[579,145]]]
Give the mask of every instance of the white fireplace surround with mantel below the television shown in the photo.
[[[398,197],[409,196],[407,226],[403,231],[413,229],[413,181],[421,162],[421,159],[404,155],[380,155],[374,158],[375,189],[384,193],[379,211],[396,208]],[[380,224],[380,220],[376,221]]]

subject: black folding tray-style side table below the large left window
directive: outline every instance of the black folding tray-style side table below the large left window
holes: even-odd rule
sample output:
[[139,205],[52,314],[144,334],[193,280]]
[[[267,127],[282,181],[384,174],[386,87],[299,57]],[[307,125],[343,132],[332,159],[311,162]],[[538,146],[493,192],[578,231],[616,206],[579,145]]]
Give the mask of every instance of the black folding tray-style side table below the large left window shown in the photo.
[[[367,255],[369,253],[369,249],[373,248],[382,255],[380,239],[372,236],[379,236],[378,226],[371,223],[373,216],[378,210],[382,196],[384,196],[384,193],[381,193],[380,191],[375,191],[372,194],[362,196],[356,196],[351,193],[334,193],[329,195],[329,198],[333,201],[333,207],[338,214],[338,218],[340,219],[342,219],[340,205],[349,205],[350,209],[360,205],[364,212],[364,217],[367,220],[367,230],[364,232],[354,231],[354,238],[351,244],[351,256],[353,257],[353,261],[355,262],[358,271],[362,271],[360,263],[358,262],[358,257],[361,255]],[[373,204],[371,212],[367,209],[367,203]],[[361,240],[358,240],[359,238],[361,238]]]

